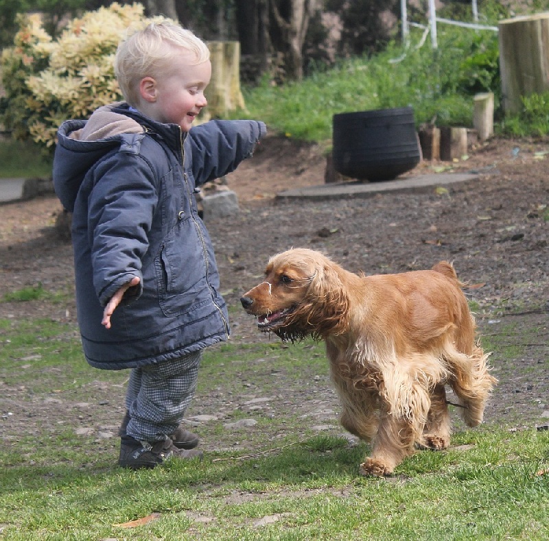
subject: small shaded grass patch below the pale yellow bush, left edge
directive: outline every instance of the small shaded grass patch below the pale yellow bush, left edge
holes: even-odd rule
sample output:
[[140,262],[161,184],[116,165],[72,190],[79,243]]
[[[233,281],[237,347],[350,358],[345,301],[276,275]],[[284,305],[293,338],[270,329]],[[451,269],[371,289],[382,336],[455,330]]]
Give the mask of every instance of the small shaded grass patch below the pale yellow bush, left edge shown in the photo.
[[51,160],[31,143],[0,140],[0,178],[49,178]]

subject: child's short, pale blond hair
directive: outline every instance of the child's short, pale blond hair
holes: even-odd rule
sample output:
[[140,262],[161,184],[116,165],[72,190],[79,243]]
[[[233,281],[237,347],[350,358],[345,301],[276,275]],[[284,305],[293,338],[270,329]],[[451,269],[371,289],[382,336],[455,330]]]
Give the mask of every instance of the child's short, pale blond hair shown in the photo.
[[115,75],[128,104],[137,105],[143,77],[161,77],[170,70],[171,61],[184,52],[191,57],[189,64],[201,64],[210,58],[200,38],[168,19],[152,21],[137,32],[131,33],[130,29],[115,56]]

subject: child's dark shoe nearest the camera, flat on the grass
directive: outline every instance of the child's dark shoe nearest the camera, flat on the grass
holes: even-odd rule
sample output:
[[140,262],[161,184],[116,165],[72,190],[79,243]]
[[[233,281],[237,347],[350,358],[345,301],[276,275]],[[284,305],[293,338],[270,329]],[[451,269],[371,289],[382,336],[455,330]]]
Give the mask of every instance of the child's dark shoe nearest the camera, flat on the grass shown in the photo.
[[174,446],[168,437],[163,442],[139,442],[135,438],[124,435],[120,442],[120,455],[118,464],[122,468],[139,470],[141,468],[154,468],[163,464],[167,459],[192,459],[202,461],[203,453],[200,450],[179,449]]

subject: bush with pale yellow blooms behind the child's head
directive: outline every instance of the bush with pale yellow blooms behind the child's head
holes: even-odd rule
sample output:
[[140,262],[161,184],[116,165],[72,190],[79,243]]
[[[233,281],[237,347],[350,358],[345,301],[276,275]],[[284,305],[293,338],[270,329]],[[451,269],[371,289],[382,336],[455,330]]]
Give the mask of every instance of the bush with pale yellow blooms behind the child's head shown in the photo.
[[128,27],[147,22],[142,5],[113,3],[73,19],[53,40],[40,16],[19,16],[14,47],[1,56],[0,121],[16,139],[53,148],[62,121],[122,99],[113,67],[117,45]]

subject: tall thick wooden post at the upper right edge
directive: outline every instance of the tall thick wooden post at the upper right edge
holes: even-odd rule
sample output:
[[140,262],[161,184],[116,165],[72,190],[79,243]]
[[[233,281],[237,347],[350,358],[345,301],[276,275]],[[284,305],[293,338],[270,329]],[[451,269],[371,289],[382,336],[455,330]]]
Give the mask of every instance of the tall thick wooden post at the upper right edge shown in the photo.
[[500,73],[506,115],[522,110],[522,96],[549,91],[549,13],[500,21]]

